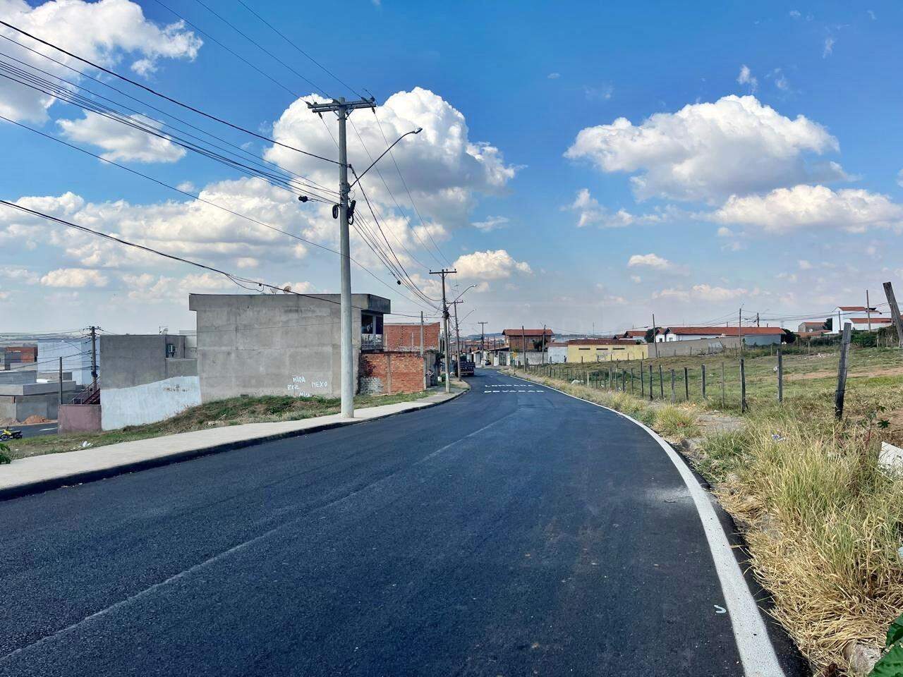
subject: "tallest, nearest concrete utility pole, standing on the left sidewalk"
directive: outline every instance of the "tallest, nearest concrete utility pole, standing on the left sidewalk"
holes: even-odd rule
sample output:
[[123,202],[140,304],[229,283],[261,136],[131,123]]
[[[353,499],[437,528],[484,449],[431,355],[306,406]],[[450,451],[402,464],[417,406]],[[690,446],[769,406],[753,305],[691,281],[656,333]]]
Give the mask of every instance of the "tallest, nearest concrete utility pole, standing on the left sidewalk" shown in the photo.
[[[329,103],[307,107],[322,117],[323,113],[335,113],[339,118],[339,241],[341,259],[341,415],[354,417],[354,342],[351,339],[351,245],[348,223],[348,143],[345,123],[356,108],[375,108],[376,99],[360,98],[346,101],[344,97]],[[333,208],[334,209],[334,208]]]

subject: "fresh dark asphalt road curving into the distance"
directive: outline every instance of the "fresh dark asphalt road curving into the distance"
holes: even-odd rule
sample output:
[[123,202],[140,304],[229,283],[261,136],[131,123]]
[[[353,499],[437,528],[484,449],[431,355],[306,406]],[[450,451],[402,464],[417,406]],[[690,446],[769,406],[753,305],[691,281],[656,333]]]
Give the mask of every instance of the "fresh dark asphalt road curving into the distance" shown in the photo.
[[662,448],[547,388],[470,383],[0,503],[0,675],[742,675]]

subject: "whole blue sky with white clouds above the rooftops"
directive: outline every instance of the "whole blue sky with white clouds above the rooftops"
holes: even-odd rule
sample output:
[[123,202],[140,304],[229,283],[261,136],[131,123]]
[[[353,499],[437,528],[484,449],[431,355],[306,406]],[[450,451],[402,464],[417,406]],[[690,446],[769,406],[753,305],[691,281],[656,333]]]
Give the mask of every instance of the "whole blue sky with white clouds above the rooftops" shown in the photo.
[[[284,87],[313,93],[197,0],[165,4]],[[350,96],[236,0],[209,6],[331,96]],[[461,306],[473,311],[467,330],[471,320],[488,320],[489,330],[625,329],[649,324],[652,312],[660,324],[723,321],[741,305],[749,316],[758,311],[796,327],[838,303],[864,302],[866,289],[883,301],[885,280],[903,284],[901,95],[892,77],[903,48],[895,5],[343,3],[330,8],[348,19],[341,50],[338,14],[283,2],[252,6],[385,104],[378,115],[387,135],[424,126],[395,155],[424,223],[390,158],[378,165],[387,190],[375,172],[364,187],[426,296],[437,292],[426,268],[446,259],[461,271],[460,290],[478,285]],[[303,102],[292,107],[293,94],[191,26],[173,26],[176,17],[154,0],[0,0],[0,16],[172,97],[334,156],[325,127]],[[0,45],[5,54],[15,49]],[[21,86],[0,82],[0,95],[9,88]],[[33,93],[17,94],[0,103],[0,114],[335,246],[326,205],[300,205],[209,159],[159,140],[152,146],[146,134],[120,138],[125,127],[85,120],[65,102],[35,104]],[[385,143],[373,115],[358,111],[352,119],[370,152],[380,153]],[[335,185],[335,165],[191,121]],[[365,167],[355,134],[349,129],[351,162]],[[198,211],[183,196],[14,125],[0,123],[0,141],[3,199],[247,278],[297,291],[338,289],[338,259],[317,246],[295,250],[296,240],[262,235],[215,209]],[[7,330],[186,329],[193,324],[188,292],[242,291],[4,210]],[[410,301],[413,293],[359,241],[354,255],[382,281],[357,271],[355,291],[389,296],[405,314],[427,305]]]

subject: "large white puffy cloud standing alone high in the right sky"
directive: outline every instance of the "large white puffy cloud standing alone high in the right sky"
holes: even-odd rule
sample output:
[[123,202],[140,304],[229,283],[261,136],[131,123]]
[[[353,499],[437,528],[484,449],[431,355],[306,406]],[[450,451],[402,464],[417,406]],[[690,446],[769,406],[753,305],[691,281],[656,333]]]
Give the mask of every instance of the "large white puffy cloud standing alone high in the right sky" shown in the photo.
[[806,162],[807,153],[839,150],[822,125],[791,119],[756,97],[722,97],[656,113],[639,125],[619,117],[586,127],[565,156],[602,172],[628,172],[639,199],[717,202],[804,181],[844,178],[840,165]]

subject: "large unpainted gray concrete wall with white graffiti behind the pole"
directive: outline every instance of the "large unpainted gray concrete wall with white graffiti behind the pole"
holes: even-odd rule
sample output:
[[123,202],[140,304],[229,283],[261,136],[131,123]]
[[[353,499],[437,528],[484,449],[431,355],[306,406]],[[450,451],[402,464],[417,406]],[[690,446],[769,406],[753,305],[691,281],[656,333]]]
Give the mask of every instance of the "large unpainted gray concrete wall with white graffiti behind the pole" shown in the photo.
[[[203,402],[240,394],[340,394],[338,294],[191,294],[197,312]],[[358,382],[359,309],[391,311],[389,301],[353,294],[351,336]]]

